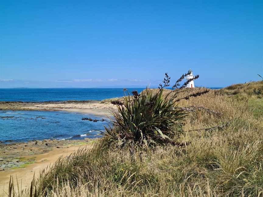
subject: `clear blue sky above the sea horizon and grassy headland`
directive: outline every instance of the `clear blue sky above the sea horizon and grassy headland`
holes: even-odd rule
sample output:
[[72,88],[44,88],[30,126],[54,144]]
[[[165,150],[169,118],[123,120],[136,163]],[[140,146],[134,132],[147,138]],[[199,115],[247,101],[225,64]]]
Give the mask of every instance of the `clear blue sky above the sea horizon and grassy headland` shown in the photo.
[[196,85],[263,75],[263,1],[1,1],[0,88]]

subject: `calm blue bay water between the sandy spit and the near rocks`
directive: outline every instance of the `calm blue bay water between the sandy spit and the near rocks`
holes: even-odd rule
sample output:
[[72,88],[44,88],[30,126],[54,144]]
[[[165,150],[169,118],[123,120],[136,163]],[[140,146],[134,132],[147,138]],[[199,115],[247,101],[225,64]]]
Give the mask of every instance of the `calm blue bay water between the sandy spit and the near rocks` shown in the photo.
[[105,122],[81,120],[91,117],[64,111],[1,111],[0,110],[0,141],[26,142],[28,140],[77,140],[85,137],[101,137]]

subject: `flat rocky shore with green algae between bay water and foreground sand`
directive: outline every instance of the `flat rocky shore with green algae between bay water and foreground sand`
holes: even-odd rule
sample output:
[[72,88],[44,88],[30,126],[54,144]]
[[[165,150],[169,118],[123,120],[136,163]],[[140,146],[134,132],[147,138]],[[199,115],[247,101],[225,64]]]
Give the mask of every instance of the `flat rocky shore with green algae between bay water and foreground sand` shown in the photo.
[[[23,143],[0,143],[0,171],[24,168],[35,162],[34,155],[54,149],[91,144],[98,138],[84,140],[30,140]],[[25,158],[24,156],[32,156]]]

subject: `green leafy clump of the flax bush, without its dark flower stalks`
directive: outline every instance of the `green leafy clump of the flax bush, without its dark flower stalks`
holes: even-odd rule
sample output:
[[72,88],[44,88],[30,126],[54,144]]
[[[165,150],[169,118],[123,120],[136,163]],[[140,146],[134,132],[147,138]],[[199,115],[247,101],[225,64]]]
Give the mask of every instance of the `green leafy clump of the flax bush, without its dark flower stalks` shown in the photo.
[[141,94],[133,91],[124,102],[113,102],[117,111],[112,111],[114,124],[105,128],[106,135],[122,141],[136,141],[146,145],[172,142],[186,113],[176,109],[174,98],[166,99],[163,89],[153,92],[146,88]]

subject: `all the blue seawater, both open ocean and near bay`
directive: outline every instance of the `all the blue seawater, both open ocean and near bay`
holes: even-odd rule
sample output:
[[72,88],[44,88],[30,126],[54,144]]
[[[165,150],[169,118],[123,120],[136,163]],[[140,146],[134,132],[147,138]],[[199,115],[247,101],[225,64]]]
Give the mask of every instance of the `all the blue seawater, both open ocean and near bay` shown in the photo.
[[[127,88],[129,92],[144,88]],[[66,100],[103,100],[122,97],[122,88],[17,88],[0,89],[0,101],[48,102]],[[101,137],[105,122],[89,122],[82,117],[90,114],[64,111],[0,110],[0,141],[28,141],[43,139],[84,139]]]

